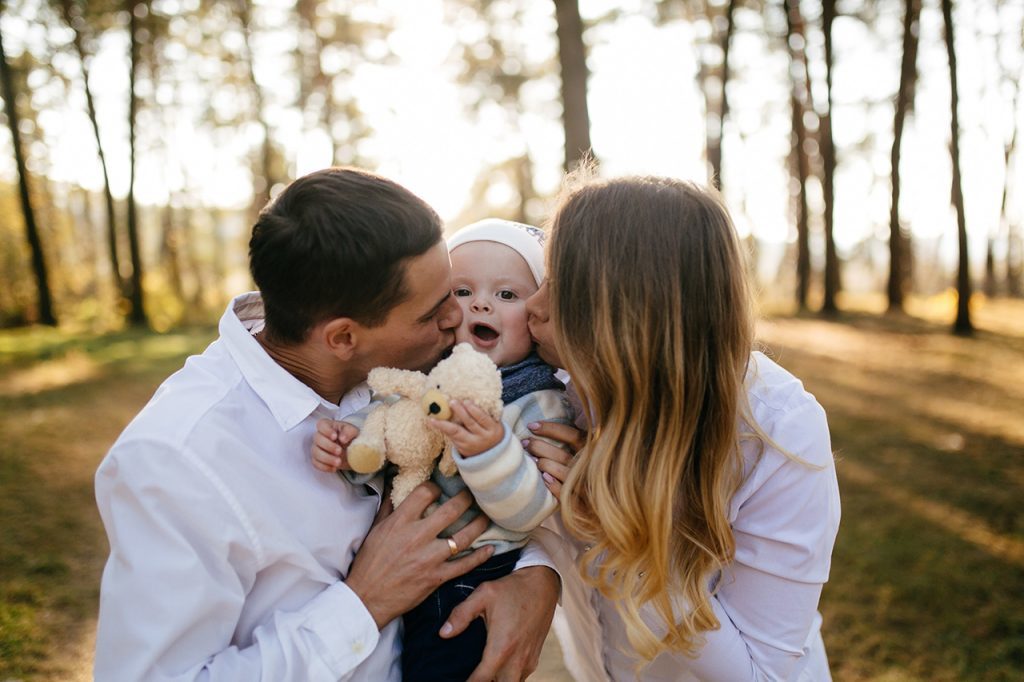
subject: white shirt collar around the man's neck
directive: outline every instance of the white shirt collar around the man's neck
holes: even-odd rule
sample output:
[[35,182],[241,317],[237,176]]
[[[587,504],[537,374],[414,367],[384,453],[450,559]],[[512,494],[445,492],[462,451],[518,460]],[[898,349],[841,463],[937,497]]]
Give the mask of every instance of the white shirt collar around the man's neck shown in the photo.
[[[292,376],[270,357],[254,336],[263,331],[263,299],[259,292],[237,296],[220,318],[220,338],[227,346],[243,378],[266,404],[285,431],[291,430],[317,411],[336,417],[338,406]],[[357,386],[345,396],[369,389]]]

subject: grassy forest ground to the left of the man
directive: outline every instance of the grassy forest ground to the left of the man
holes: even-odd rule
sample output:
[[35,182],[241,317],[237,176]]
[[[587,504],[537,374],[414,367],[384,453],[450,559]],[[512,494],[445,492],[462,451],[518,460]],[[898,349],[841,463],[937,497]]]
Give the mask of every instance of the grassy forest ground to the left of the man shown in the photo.
[[0,680],[91,679],[108,551],[92,476],[210,329],[0,333]]

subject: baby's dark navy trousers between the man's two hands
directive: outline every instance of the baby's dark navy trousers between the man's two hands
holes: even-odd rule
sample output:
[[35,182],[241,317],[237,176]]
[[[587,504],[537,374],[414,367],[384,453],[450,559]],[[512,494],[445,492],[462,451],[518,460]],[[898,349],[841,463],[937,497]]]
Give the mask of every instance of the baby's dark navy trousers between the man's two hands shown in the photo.
[[401,647],[403,682],[455,682],[470,676],[479,665],[487,641],[483,620],[474,620],[462,634],[452,639],[441,639],[437,632],[452,609],[464,602],[481,583],[511,573],[520,552],[515,549],[490,557],[465,576],[441,585],[402,616],[406,626]]

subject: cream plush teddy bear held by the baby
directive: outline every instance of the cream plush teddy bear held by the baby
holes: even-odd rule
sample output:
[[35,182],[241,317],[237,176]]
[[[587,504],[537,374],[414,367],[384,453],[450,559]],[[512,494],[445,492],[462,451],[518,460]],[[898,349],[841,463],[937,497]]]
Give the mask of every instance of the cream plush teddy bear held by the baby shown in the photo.
[[358,473],[379,471],[385,460],[397,465],[391,481],[395,506],[430,478],[438,456],[440,472],[456,473],[452,443],[428,421],[451,419],[450,400],[469,400],[495,419],[502,418],[501,373],[468,343],[457,345],[428,375],[377,368],[370,372],[368,383],[384,399],[348,445],[348,464]]

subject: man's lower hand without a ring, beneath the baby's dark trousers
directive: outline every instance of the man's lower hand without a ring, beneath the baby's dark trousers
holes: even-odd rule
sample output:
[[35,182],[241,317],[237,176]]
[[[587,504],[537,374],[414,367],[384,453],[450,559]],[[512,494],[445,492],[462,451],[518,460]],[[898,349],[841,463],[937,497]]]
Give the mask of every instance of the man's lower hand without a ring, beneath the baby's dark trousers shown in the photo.
[[447,639],[480,616],[487,626],[483,658],[470,682],[526,679],[537,670],[558,601],[558,574],[528,566],[481,584],[452,610],[440,636]]

